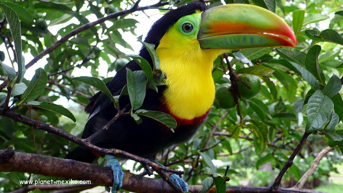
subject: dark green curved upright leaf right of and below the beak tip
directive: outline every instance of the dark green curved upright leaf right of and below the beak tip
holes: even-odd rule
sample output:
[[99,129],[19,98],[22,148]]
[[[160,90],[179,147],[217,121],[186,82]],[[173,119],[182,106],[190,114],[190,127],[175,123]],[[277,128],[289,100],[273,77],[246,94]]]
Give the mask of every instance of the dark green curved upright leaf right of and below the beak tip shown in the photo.
[[305,59],[305,67],[309,72],[312,73],[312,75],[316,77],[317,80],[320,81],[322,85],[325,85],[325,77],[323,74],[323,70],[321,69],[318,63],[318,56],[320,54],[320,50],[320,45],[314,45],[308,50]]

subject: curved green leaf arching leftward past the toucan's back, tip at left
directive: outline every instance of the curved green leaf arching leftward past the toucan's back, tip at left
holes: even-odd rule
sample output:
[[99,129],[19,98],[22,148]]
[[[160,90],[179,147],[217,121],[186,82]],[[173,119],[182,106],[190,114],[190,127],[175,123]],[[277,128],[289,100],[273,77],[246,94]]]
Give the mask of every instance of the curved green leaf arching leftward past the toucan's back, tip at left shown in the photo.
[[76,77],[76,78],[73,78],[71,80],[80,81],[80,82],[89,84],[89,85],[99,89],[99,91],[106,94],[113,101],[114,107],[115,108],[117,107],[116,100],[113,98],[113,95],[108,90],[108,88],[106,87],[106,84],[102,80],[100,80],[98,78],[94,78],[94,77],[87,77],[87,76]]

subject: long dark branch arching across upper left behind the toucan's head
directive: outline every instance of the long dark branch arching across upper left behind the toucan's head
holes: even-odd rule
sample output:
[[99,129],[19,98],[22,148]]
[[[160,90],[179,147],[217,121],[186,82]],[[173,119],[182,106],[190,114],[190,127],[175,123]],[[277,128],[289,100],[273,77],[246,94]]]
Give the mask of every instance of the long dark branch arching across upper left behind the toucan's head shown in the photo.
[[53,50],[55,50],[58,46],[60,46],[61,44],[63,44],[64,42],[66,42],[69,38],[73,37],[74,35],[85,31],[87,29],[90,29],[91,27],[94,27],[97,24],[103,23],[107,20],[110,19],[114,19],[117,18],[118,16],[121,15],[126,15],[128,13],[133,13],[135,11],[142,11],[142,10],[146,10],[146,9],[156,9],[157,7],[163,6],[163,5],[167,5],[168,1],[166,2],[159,2],[156,3],[152,6],[146,6],[146,7],[132,7],[131,9],[127,9],[127,10],[121,10],[115,13],[111,13],[109,15],[107,15],[106,17],[100,18],[94,22],[89,22],[86,24],[83,24],[82,26],[76,28],[75,30],[71,31],[70,33],[68,33],[67,35],[63,36],[59,41],[55,42],[54,44],[52,44],[51,46],[49,46],[48,48],[46,48],[43,52],[39,53],[36,57],[34,57],[26,66],[25,68],[29,68],[32,65],[34,65],[38,60],[42,59],[45,55],[49,54],[50,52],[52,52]]

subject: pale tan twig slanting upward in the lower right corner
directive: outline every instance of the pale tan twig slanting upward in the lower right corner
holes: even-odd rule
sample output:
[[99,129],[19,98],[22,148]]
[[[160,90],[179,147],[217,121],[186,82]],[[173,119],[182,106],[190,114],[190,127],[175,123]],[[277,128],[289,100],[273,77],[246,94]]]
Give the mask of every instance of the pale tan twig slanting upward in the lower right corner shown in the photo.
[[319,152],[319,154],[316,156],[316,159],[313,161],[311,167],[304,173],[304,175],[300,178],[300,180],[291,189],[294,189],[294,190],[301,190],[301,189],[303,189],[303,186],[304,186],[305,182],[307,182],[307,180],[310,177],[310,175],[312,175],[312,173],[315,172],[316,169],[318,168],[319,161],[329,151],[331,151],[331,150],[333,150],[333,149],[335,149],[337,147],[338,147],[338,145],[335,146],[335,147],[326,147],[323,150],[321,150]]

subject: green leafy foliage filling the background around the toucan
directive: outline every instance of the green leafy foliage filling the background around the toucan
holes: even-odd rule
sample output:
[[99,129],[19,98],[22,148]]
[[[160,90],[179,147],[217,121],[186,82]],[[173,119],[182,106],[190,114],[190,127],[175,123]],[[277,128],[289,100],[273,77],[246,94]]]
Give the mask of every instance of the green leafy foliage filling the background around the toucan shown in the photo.
[[[169,1],[165,8],[178,7],[187,1]],[[36,68],[33,78],[24,78],[24,65],[29,61],[25,61],[23,56],[35,57],[61,37],[90,22],[91,18],[99,19],[133,5],[132,1],[126,0],[56,2],[0,2],[0,46],[1,49],[5,48],[0,51],[0,83],[3,82],[0,85],[0,107],[7,108],[4,105],[9,104],[17,113],[81,136],[84,123],[78,124],[86,120],[86,115],[80,115],[80,111],[88,104],[88,99],[100,90],[109,95],[114,105],[117,105],[120,96],[129,95],[133,107],[131,116],[136,122],[139,123],[140,116],[148,116],[171,129],[175,128],[175,120],[169,115],[139,109],[145,90],[156,90],[164,76],[158,70],[159,59],[152,45],[143,43],[153,55],[154,69],[140,56],[126,55],[125,49],[122,49],[133,50],[123,39],[123,34],[137,36],[136,33],[141,33],[135,30],[139,26],[135,18],[137,12],[74,35],[45,57],[47,62],[42,68],[31,67]],[[343,125],[340,121],[343,117],[343,100],[339,77],[343,74],[343,15],[340,7],[343,1],[225,2],[251,3],[276,12],[293,27],[298,43],[294,48],[232,50],[229,56],[232,57],[230,63],[233,69],[237,74],[258,76],[261,80],[259,93],[250,99],[239,99],[237,108],[225,109],[219,103],[213,106],[207,121],[191,140],[173,146],[168,150],[168,156],[159,156],[157,160],[171,168],[183,168],[184,179],[189,184],[203,184],[209,188],[213,180],[217,182],[216,178],[225,184],[220,175],[224,176],[226,165],[229,164],[231,169],[227,176],[231,180],[227,184],[237,185],[239,179],[255,173],[266,178],[256,183],[265,185],[275,175],[257,171],[259,166],[271,162],[273,170],[278,172],[303,133],[307,132],[313,135],[310,135],[299,154],[307,158],[307,165],[296,161],[286,173],[286,180],[291,177],[298,179],[323,147],[338,145],[337,151],[327,155],[326,167],[323,166],[312,176],[322,178],[322,174],[334,170],[332,163],[342,163]],[[222,3],[214,0],[207,4],[212,7]],[[128,71],[126,90],[124,88],[120,95],[112,96],[104,85],[115,74],[119,61],[131,58],[138,61],[142,70]],[[104,69],[104,66],[108,68]],[[86,71],[92,78],[79,77],[78,69],[82,69],[82,73]],[[218,57],[212,73],[216,88],[228,88],[231,85],[227,74],[224,58]],[[159,79],[157,75],[162,78]],[[10,96],[9,101],[6,100],[7,96]],[[66,99],[69,100],[68,104],[63,102]],[[71,107],[76,108],[72,111],[74,114],[77,112],[76,119],[69,111],[73,109]],[[66,121],[62,115],[71,120]],[[1,116],[0,120],[0,149],[13,146],[16,151],[64,157],[76,147],[64,138],[14,122],[10,118]],[[76,124],[72,122],[75,120]],[[210,133],[214,127],[217,133],[213,137]],[[203,172],[205,167],[220,175],[214,171]],[[141,171],[142,168],[141,164],[133,165],[134,171]],[[18,189],[22,186],[19,180],[27,178],[55,179],[17,172],[0,173],[0,191]]]

